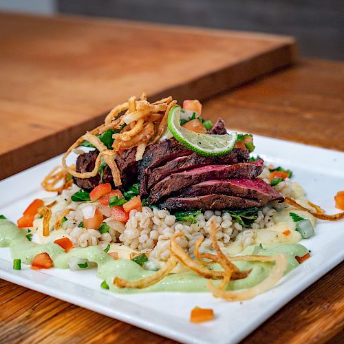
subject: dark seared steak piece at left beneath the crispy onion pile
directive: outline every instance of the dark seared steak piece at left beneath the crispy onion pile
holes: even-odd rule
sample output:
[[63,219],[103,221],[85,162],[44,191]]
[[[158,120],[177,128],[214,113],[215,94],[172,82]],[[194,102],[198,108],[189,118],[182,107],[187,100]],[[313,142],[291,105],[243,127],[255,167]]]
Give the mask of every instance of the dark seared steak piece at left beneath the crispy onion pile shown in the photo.
[[[76,159],[76,171],[81,173],[93,171],[98,154],[99,151],[95,150],[78,155],[78,158]],[[118,158],[116,158],[116,163],[120,170],[122,186],[133,184],[137,180],[136,175],[138,173],[138,164],[135,159],[135,155],[136,148],[133,148],[123,151],[122,154],[118,155]],[[73,180],[74,184],[78,185],[81,189],[91,191],[99,185],[100,175],[97,174],[91,178],[73,177]],[[109,166],[105,166],[103,170],[103,183],[110,183],[114,187],[114,180]]]

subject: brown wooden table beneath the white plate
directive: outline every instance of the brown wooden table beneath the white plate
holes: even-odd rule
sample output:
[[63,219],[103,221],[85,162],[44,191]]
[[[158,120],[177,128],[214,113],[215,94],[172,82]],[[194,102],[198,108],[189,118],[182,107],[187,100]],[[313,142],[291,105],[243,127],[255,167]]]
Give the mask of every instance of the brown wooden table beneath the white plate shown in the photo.
[[[242,131],[344,151],[343,94],[344,63],[307,60],[206,100],[204,115],[222,116]],[[341,264],[244,343],[343,343],[343,280]],[[173,343],[3,280],[0,310],[0,343]]]

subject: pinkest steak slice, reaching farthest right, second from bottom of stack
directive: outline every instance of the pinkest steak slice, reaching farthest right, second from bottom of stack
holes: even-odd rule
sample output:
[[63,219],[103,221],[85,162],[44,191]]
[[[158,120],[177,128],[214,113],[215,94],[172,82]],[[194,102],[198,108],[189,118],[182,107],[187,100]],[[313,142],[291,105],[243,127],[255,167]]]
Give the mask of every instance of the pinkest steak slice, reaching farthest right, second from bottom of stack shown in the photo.
[[206,182],[187,186],[178,193],[180,197],[194,197],[220,194],[260,200],[268,203],[272,200],[283,201],[283,197],[261,179],[232,179],[232,180],[207,180]]

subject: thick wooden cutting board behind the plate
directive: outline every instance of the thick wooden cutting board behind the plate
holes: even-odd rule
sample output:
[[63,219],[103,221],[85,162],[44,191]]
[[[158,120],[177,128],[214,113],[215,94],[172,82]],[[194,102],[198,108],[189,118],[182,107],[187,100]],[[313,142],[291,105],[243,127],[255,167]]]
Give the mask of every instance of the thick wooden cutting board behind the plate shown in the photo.
[[133,94],[204,99],[290,65],[286,36],[0,14],[0,179],[62,153]]

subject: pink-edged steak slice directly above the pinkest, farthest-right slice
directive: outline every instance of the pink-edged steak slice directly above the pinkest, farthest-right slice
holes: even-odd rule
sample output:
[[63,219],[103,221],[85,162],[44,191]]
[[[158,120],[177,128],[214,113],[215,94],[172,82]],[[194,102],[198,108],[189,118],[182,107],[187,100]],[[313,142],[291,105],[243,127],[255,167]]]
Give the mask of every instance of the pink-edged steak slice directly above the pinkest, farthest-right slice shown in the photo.
[[162,197],[173,195],[186,186],[205,182],[206,180],[228,180],[239,178],[256,178],[264,169],[264,161],[239,162],[235,165],[208,165],[169,175],[153,188],[150,193],[150,202],[155,203]]

